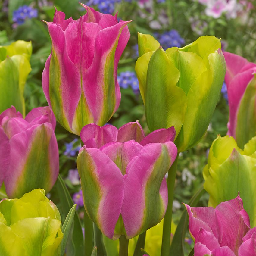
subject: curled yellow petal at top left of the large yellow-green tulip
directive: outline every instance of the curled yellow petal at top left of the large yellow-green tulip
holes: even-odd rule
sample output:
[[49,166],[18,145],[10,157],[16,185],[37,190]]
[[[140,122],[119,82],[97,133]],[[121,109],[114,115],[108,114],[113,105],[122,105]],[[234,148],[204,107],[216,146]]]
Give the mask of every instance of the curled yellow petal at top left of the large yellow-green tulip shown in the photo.
[[145,53],[156,51],[160,43],[151,35],[145,35],[138,32],[139,57]]

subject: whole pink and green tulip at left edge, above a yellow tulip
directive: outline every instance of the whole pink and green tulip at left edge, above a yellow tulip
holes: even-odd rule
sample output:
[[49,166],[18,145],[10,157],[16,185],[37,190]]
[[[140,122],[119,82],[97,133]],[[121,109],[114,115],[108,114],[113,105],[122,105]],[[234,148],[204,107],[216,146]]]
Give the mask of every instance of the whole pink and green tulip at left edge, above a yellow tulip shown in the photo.
[[49,107],[32,109],[25,119],[13,106],[0,114],[0,186],[9,198],[52,189],[59,173],[55,126]]

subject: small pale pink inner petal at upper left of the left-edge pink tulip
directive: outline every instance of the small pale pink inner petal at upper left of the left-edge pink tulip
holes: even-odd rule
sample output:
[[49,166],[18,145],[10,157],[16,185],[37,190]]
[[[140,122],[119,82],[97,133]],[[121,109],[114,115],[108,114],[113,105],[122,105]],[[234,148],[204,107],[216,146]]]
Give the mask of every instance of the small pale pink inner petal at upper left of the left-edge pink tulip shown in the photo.
[[9,139],[30,127],[31,124],[20,117],[8,118],[6,121],[5,119],[2,120],[2,128]]

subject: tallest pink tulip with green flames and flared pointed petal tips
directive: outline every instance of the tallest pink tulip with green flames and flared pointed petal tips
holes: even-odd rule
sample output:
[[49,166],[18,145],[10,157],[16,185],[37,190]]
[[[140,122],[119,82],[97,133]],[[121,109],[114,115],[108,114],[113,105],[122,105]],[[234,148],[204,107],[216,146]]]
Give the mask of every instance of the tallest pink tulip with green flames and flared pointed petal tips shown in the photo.
[[89,123],[104,125],[120,104],[117,64],[128,42],[130,21],[83,5],[79,20],[57,11],[46,22],[52,53],[45,63],[42,86],[58,122],[80,134]]

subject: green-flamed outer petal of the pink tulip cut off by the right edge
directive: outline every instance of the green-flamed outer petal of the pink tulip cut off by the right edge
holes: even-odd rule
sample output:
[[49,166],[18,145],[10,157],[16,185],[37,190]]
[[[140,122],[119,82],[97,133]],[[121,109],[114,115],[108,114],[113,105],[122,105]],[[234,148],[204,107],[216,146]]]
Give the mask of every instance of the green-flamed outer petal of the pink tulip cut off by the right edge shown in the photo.
[[255,136],[256,132],[256,76],[251,80],[245,89],[245,93],[239,104],[236,125],[236,142],[239,148]]

